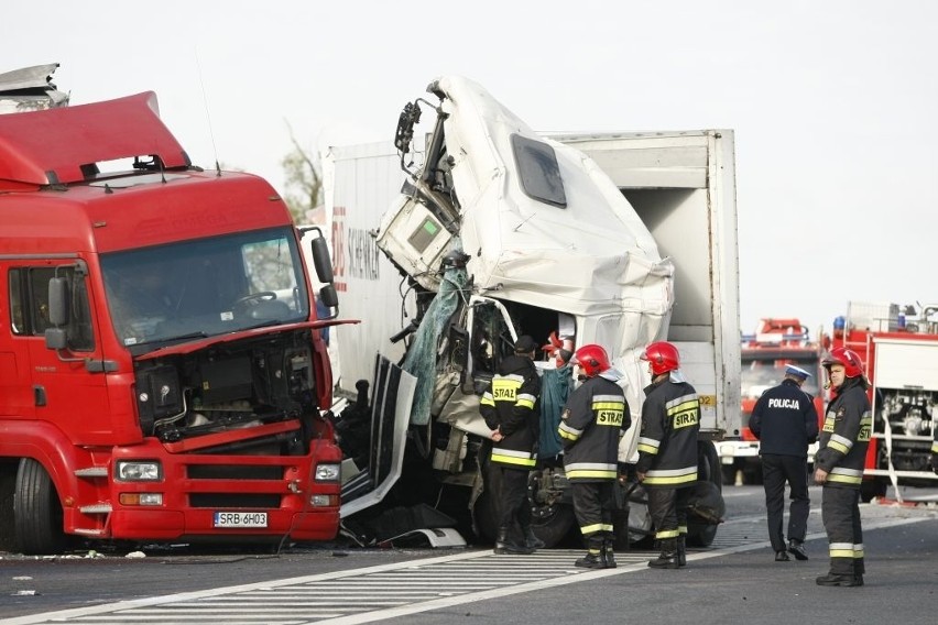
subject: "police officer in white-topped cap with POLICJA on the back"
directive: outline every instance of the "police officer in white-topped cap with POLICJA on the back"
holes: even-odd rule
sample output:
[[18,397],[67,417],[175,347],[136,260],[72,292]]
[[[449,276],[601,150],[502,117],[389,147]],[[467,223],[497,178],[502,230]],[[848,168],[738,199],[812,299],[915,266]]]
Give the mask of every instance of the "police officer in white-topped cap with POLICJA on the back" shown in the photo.
[[[768,517],[768,539],[776,562],[787,562],[788,551],[798,560],[807,560],[803,542],[808,530],[808,445],[817,440],[818,413],[814,397],[801,390],[811,374],[788,365],[782,384],[770,388],[755,403],[749,427],[761,440],[762,479],[765,487],[765,509]],[[788,551],[782,535],[785,512],[785,483],[788,483],[792,504],[788,508]]]

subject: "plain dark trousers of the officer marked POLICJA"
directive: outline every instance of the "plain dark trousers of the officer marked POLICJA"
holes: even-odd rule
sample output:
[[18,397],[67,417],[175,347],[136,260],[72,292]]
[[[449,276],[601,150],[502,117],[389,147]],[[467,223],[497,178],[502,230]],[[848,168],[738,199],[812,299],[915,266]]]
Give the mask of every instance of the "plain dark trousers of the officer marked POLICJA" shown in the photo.
[[788,484],[792,503],[788,506],[788,539],[804,542],[808,531],[808,459],[798,456],[762,456],[762,483],[765,487],[765,511],[768,518],[768,540],[775,551],[785,550],[782,534],[785,515],[785,484]]

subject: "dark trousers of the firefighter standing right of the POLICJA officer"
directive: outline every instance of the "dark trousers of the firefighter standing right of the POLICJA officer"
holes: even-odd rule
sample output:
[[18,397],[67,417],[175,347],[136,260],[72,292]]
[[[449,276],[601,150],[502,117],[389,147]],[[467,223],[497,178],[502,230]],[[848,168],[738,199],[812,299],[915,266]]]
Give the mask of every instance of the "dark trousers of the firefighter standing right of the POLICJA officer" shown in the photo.
[[821,520],[830,550],[830,572],[862,575],[863,528],[860,526],[860,491],[825,485],[821,491]]

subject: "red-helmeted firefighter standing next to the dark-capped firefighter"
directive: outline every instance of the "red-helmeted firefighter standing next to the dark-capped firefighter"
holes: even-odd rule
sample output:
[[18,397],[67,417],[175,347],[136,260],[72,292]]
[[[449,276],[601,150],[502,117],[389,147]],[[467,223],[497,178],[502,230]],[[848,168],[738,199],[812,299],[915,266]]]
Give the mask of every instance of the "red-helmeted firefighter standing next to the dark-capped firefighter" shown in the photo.
[[557,428],[564,446],[564,471],[574,494],[574,512],[587,546],[576,561],[587,569],[614,569],[612,513],[619,476],[619,439],[632,424],[621,375],[606,350],[587,344],[570,361],[580,369],[580,386],[570,394]]

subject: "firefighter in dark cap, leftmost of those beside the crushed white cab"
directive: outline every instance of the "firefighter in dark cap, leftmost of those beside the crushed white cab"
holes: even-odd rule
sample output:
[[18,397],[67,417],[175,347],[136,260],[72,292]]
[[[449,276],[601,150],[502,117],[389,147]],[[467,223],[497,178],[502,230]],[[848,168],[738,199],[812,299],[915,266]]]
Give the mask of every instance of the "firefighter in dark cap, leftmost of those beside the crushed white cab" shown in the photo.
[[[495,553],[533,553],[544,546],[531,528],[527,497],[527,478],[536,463],[539,432],[541,379],[533,362],[536,349],[534,339],[519,337],[514,354],[501,361],[479,404],[482,418],[492,430],[489,476],[498,500]],[[509,538],[515,524],[521,527],[522,544]]]

